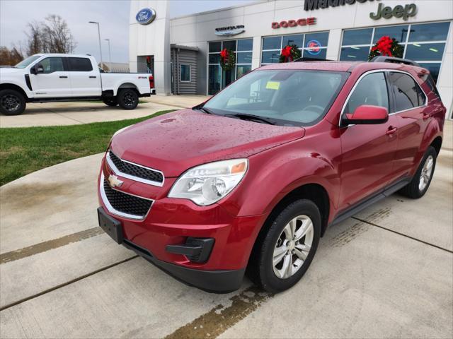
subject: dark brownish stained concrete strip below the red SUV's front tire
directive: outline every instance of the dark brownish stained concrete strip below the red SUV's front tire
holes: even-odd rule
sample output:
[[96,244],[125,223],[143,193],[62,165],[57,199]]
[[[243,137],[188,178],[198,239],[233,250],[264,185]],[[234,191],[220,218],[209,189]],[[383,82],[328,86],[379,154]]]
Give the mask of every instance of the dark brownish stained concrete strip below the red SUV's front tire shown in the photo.
[[224,307],[224,305],[218,304],[164,339],[217,338],[228,328],[258,309],[270,297],[273,295],[263,292],[256,286],[248,287],[239,295],[230,298],[231,306]]

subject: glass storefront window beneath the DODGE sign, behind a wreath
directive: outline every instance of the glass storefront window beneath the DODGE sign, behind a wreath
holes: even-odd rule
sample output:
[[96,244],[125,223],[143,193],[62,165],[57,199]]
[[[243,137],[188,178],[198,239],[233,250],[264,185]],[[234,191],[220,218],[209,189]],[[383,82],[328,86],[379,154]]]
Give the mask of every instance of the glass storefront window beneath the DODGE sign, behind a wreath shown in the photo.
[[328,32],[279,35],[263,37],[261,64],[276,64],[280,61],[282,48],[295,44],[302,52],[302,57],[311,59],[326,59]]

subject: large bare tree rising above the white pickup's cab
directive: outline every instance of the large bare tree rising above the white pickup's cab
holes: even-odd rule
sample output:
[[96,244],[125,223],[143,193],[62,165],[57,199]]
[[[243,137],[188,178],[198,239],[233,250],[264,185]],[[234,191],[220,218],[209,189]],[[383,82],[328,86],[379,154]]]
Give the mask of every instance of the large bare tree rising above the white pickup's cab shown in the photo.
[[[76,42],[69,30],[66,20],[61,16],[52,14],[45,18],[42,24],[44,37],[44,49],[50,53],[72,53],[76,48]],[[47,51],[45,51],[47,52]]]

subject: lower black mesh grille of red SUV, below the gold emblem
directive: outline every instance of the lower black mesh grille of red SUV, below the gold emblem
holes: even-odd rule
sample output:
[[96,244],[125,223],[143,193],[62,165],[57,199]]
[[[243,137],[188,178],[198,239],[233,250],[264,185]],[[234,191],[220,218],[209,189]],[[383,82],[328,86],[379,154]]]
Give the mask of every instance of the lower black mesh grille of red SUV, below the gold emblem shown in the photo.
[[121,215],[126,218],[143,219],[148,214],[149,208],[153,203],[152,200],[131,196],[122,191],[112,189],[107,180],[103,182],[103,198],[105,205],[111,213]]

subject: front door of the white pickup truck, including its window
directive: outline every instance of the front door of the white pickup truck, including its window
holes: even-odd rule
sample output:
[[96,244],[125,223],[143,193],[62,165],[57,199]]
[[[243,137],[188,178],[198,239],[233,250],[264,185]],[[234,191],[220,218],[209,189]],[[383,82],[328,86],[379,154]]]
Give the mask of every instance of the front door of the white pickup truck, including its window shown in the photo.
[[71,97],[69,72],[62,57],[47,57],[38,61],[42,73],[30,74],[34,97]]

